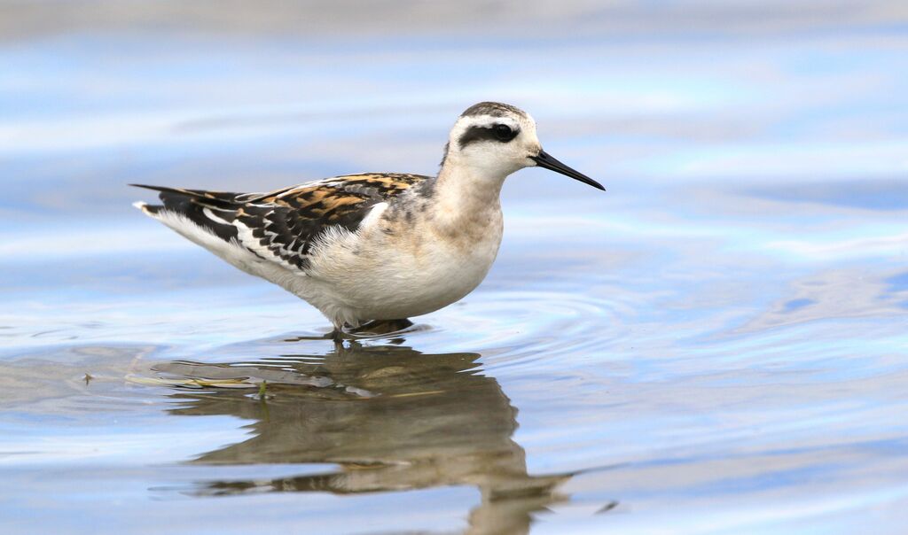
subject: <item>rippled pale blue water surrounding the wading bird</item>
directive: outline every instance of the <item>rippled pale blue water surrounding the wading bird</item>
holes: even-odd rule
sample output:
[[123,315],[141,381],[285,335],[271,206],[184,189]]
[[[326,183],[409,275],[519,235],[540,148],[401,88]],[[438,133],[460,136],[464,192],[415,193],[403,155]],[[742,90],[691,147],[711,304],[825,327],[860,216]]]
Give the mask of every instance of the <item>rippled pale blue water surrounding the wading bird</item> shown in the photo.
[[[829,4],[0,4],[0,528],[902,532],[908,24]],[[608,191],[509,179],[400,336],[129,206],[430,173],[487,99]]]

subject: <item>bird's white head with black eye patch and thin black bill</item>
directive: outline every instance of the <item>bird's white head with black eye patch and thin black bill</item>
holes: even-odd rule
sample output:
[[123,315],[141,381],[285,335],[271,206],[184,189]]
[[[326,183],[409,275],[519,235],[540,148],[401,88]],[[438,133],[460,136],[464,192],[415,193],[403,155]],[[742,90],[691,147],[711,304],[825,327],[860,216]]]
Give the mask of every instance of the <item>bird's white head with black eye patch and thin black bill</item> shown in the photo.
[[549,156],[536,137],[536,122],[514,106],[479,102],[460,114],[451,129],[441,166],[463,166],[492,180],[504,180],[525,167],[539,166],[605,190]]

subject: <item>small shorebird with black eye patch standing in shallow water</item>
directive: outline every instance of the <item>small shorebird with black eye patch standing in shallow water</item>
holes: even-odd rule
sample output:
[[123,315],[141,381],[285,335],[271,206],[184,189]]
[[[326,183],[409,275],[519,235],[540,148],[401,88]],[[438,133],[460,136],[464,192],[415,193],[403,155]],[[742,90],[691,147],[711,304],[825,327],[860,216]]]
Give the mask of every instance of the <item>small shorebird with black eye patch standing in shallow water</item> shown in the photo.
[[478,287],[501,243],[502,185],[528,167],[605,190],[543,151],[533,118],[501,102],[459,115],[434,177],[364,172],[253,193],[130,185],[158,192],[160,204],[133,204],[145,215],[301,297],[337,339],[410,326]]

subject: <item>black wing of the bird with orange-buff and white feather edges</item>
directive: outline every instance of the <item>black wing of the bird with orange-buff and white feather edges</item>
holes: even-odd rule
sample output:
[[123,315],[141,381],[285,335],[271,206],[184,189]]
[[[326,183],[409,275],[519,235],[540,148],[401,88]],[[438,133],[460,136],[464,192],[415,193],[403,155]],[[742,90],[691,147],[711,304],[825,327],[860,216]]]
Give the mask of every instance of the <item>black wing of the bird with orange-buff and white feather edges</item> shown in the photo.
[[429,177],[366,173],[319,180],[268,193],[228,193],[158,186],[163,204],[140,204],[145,213],[176,212],[225,241],[235,241],[285,268],[305,270],[311,248],[331,227],[350,231],[376,204],[400,195]]

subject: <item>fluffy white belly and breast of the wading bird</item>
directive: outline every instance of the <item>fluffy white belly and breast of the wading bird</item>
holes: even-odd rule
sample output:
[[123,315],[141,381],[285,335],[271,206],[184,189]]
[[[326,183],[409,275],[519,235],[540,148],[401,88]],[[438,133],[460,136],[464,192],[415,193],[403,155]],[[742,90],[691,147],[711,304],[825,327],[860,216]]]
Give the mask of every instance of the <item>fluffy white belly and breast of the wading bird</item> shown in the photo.
[[359,233],[327,240],[311,256],[308,280],[287,287],[335,325],[421,316],[448,306],[479,286],[498,255],[498,210],[471,229],[470,238],[441,237],[424,221],[389,229],[379,215]]

